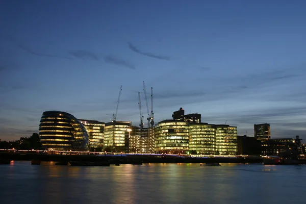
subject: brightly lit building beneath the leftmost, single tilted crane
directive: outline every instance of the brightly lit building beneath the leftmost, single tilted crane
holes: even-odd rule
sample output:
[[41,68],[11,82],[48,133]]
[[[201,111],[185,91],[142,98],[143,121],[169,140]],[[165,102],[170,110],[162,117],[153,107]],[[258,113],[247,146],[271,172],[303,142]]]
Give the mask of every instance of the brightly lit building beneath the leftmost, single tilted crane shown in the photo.
[[105,123],[104,150],[108,152],[129,152],[130,121]]

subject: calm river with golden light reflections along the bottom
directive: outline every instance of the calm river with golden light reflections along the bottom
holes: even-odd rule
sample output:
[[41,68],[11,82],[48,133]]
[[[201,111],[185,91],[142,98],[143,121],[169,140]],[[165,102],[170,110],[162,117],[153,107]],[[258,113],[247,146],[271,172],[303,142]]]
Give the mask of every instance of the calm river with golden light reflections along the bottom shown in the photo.
[[0,203],[304,203],[306,165],[0,165]]

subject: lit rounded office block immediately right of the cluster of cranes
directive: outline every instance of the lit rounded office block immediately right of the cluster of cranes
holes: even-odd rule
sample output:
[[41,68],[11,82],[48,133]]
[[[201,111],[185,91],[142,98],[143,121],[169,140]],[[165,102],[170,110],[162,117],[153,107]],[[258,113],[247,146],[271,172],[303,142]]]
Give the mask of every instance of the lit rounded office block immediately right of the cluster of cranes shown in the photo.
[[189,150],[189,122],[163,120],[155,126],[156,151],[184,154]]

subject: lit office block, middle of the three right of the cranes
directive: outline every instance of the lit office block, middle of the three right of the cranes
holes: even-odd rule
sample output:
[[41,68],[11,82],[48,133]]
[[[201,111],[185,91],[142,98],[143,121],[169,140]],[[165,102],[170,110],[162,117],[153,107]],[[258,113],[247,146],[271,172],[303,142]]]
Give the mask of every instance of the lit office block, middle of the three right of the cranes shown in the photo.
[[216,127],[208,123],[190,123],[189,149],[197,154],[214,155],[216,152]]

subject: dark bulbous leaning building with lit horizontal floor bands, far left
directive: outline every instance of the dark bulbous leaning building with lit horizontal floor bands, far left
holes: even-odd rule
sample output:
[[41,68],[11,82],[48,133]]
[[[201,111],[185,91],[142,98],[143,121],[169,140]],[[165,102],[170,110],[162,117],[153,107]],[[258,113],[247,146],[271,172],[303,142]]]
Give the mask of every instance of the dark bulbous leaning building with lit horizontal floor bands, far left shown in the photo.
[[46,150],[88,150],[89,138],[83,124],[73,115],[45,111],[39,124],[39,135]]

